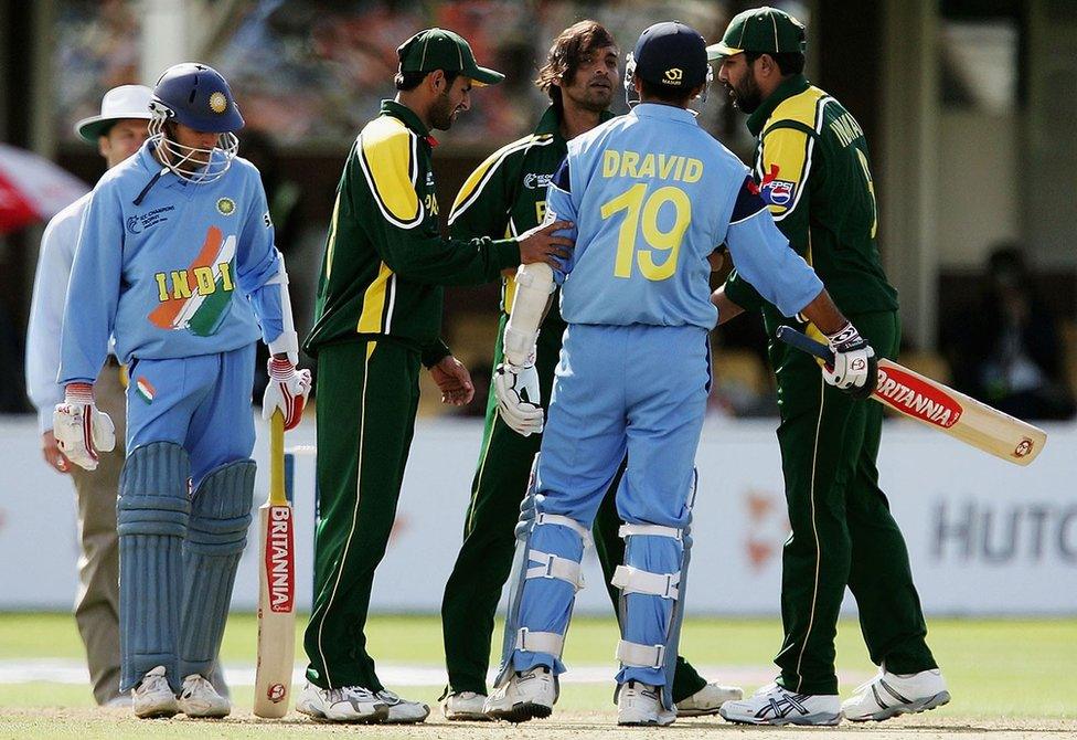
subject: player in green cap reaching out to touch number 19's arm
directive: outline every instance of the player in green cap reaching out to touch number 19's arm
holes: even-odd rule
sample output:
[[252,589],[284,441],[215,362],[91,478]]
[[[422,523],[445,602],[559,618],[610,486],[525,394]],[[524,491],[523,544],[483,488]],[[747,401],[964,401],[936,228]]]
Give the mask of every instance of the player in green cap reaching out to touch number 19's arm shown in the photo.
[[326,245],[314,327],[318,485],[314,600],[305,635],[308,685],[297,708],[319,720],[419,722],[429,707],[385,690],[366,651],[374,569],[396,515],[426,366],[448,403],[474,390],[439,339],[444,285],[497,279],[525,263],[567,257],[545,229],[510,239],[446,240],[430,169],[434,128],[470,107],[473,86],[504,76],[480,67],[467,41],[428,29],[397,50],[395,101],[355,139]]

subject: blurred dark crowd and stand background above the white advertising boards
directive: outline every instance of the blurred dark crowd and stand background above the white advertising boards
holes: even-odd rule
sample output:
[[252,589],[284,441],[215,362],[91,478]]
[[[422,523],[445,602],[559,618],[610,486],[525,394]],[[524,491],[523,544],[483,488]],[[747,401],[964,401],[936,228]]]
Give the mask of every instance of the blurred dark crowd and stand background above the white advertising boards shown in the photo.
[[[103,171],[73,131],[105,89],[152,85],[150,19],[169,12],[188,59],[231,82],[247,128],[241,152],[262,170],[297,324],[309,327],[343,157],[394,93],[396,47],[440,25],[466,36],[503,85],[435,152],[444,216],[470,170],[530,133],[546,99],[533,80],[552,39],[583,18],[625,53],[639,32],[679,19],[708,41],[756,3],[465,0],[0,0],[0,134],[87,184]],[[808,27],[808,75],[862,124],[873,151],[884,264],[902,293],[903,361],[1027,419],[1070,419],[1077,387],[1077,2],[804,0],[782,7]],[[177,12],[179,8],[179,12]],[[179,60],[174,60],[179,61]],[[701,123],[748,160],[744,118],[715,84]],[[618,96],[615,112],[627,106]],[[0,234],[0,355],[21,369],[42,224]],[[717,277],[716,277],[717,279]],[[474,403],[426,413],[481,414],[499,286],[450,289],[445,336],[479,384]],[[776,413],[755,319],[714,335],[714,413]],[[260,394],[258,395],[260,398]],[[21,371],[0,411],[29,413]]]

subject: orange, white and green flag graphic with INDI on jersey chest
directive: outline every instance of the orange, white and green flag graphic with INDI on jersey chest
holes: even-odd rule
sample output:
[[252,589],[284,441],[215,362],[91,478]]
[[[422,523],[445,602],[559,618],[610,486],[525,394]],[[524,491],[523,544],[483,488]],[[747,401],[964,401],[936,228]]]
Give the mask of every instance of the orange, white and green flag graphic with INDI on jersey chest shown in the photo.
[[188,329],[200,337],[215,334],[232,305],[235,249],[234,234],[224,239],[218,228],[210,226],[194,262],[185,271],[169,274],[170,292],[163,273],[158,276],[162,299],[149,315],[153,326]]

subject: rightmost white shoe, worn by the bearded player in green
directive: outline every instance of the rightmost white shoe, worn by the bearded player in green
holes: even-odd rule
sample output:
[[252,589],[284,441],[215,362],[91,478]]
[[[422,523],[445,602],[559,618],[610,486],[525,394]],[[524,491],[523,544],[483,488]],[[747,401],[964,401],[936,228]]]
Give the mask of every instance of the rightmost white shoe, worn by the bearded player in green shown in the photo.
[[938,668],[899,675],[884,667],[842,702],[842,712],[854,722],[881,722],[898,715],[935,709],[949,700],[950,693]]

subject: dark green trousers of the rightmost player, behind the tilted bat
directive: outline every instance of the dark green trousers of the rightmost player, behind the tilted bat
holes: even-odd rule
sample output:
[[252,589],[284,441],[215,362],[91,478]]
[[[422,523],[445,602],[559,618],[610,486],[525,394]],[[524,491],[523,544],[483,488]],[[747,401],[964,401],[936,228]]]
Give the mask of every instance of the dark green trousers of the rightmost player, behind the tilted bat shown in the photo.
[[[879,356],[897,355],[895,313],[851,319]],[[834,636],[846,585],[876,665],[935,668],[905,539],[878,487],[883,408],[825,384],[814,358],[791,348],[781,357],[778,442],[792,535],[782,552],[779,683],[838,694]]]

